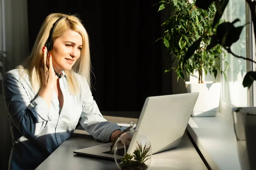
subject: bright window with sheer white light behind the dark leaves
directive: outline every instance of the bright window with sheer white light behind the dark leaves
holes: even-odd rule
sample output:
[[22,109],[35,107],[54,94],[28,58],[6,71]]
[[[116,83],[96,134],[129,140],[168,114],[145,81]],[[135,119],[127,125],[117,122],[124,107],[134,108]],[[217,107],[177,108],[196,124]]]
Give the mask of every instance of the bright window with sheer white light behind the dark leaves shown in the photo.
[[[251,23],[249,20],[249,10],[245,0],[230,0],[224,11],[223,18],[228,22],[233,22],[239,18],[240,22],[237,22],[235,26],[242,26],[245,23]],[[231,46],[231,51],[234,54],[247,58],[252,56],[250,28],[250,24],[245,26],[240,34],[240,39]],[[226,66],[227,81],[222,76],[223,101],[236,107],[250,106],[250,93],[248,92],[248,88],[244,88],[242,85],[243,78],[247,69],[250,67],[250,62],[247,63],[246,60],[239,59],[226,52],[225,62],[223,62],[222,68]]]

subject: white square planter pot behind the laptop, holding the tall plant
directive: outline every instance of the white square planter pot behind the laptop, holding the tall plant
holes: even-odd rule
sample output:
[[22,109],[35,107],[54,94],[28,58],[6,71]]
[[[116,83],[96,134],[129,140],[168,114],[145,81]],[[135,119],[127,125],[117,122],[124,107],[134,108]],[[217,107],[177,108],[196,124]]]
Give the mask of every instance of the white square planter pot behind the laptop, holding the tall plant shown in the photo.
[[221,95],[220,82],[185,82],[188,93],[199,92],[192,111],[194,117],[216,116]]

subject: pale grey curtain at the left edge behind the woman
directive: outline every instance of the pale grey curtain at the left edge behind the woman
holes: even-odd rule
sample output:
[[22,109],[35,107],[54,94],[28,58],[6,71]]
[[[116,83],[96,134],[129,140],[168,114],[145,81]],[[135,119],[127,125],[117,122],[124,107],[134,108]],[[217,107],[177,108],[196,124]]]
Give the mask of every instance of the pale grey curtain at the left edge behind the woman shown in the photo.
[[[0,0],[0,51],[7,52],[2,63],[3,74],[15,68],[29,55],[27,0]],[[9,125],[3,95],[0,94],[0,136],[2,137],[0,169],[2,170],[8,169],[12,147]]]

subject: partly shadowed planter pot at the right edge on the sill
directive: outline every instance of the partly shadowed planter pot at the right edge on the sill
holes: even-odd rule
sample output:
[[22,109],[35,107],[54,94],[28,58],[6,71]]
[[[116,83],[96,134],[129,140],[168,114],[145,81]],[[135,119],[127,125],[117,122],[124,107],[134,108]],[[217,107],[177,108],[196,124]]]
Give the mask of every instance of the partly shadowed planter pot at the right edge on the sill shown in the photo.
[[249,166],[251,170],[256,169],[256,107],[233,108],[233,121],[236,139],[246,143]]

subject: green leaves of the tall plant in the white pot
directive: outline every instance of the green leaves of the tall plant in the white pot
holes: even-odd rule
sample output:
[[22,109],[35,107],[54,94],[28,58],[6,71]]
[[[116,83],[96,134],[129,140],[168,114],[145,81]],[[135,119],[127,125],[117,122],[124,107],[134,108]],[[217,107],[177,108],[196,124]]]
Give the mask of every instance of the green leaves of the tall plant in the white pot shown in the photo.
[[[203,70],[205,74],[213,73],[215,78],[218,71],[223,73],[220,66],[221,45],[214,44],[212,48],[207,49],[210,42],[213,45],[214,39],[210,40],[210,37],[216,33],[216,28],[212,28],[216,14],[215,6],[210,4],[209,8],[198,8],[194,0],[161,0],[159,3],[159,11],[165,6],[171,6],[173,13],[162,24],[165,26],[165,32],[161,39],[168,48],[168,53],[175,56],[170,61],[175,63],[175,67],[168,68],[165,72],[174,69],[178,79],[184,79],[183,72],[189,76],[194,74],[195,70],[199,74],[202,74]],[[201,82],[203,80],[199,83]]]

